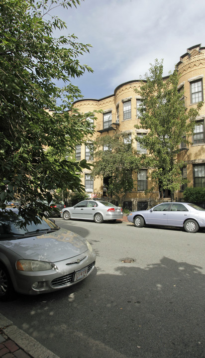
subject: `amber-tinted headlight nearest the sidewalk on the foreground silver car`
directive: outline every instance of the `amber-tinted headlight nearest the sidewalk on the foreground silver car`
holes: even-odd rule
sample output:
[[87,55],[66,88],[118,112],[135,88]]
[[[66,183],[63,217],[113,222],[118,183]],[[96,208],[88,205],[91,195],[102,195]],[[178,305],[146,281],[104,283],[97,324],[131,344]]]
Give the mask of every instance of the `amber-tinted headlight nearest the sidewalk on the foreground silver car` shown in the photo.
[[57,269],[52,262],[24,259],[16,262],[16,270],[18,271],[47,271],[52,269]]

